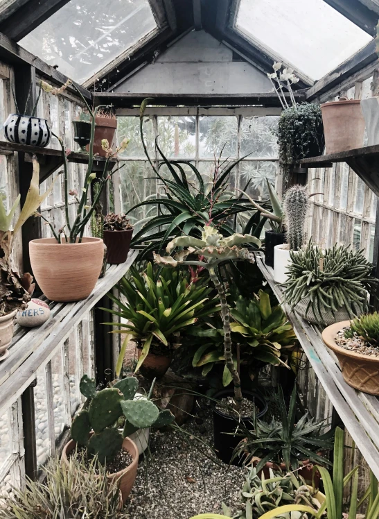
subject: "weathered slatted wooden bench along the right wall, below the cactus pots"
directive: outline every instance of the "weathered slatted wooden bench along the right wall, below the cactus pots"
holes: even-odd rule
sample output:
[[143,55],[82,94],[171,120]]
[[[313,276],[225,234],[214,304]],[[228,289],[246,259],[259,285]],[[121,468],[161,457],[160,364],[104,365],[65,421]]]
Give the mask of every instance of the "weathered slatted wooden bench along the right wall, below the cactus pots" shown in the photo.
[[[274,291],[276,298],[283,303],[283,291],[274,282],[272,269],[267,267],[264,258],[256,255],[259,269]],[[351,434],[357,448],[366,459],[369,467],[379,477],[379,400],[373,395],[367,395],[353,389],[344,382],[340,365],[330,350],[324,346],[321,331],[297,314],[291,312],[288,305],[283,309],[297,334],[319,382],[324,387],[330,402],[340,416],[346,429]]]

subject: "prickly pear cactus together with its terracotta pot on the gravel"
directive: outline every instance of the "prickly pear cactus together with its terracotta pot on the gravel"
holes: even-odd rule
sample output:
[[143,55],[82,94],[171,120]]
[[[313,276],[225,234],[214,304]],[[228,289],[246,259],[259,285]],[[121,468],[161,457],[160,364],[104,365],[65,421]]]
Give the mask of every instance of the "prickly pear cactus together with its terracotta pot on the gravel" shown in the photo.
[[[145,427],[165,427],[174,420],[170,411],[160,411],[150,400],[152,386],[146,400],[134,400],[137,388],[138,380],[127,377],[118,380],[112,388],[96,391],[95,381],[84,375],[80,391],[89,398],[89,406],[74,416],[72,439],[62,452],[62,461],[66,464],[80,448],[89,460],[96,455],[107,469],[108,478],[118,482],[123,503],[132,490],[139,459],[138,448],[128,436]],[[125,418],[122,433],[117,428],[121,416]]]

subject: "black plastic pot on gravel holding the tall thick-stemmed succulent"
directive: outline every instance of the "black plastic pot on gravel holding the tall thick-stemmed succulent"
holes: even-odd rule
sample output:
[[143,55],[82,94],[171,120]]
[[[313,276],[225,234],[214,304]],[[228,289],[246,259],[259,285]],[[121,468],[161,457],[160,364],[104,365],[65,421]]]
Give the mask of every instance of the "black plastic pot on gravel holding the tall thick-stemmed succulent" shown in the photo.
[[[233,395],[233,389],[223,389],[222,391],[218,391],[218,393],[216,393],[213,398],[215,398],[215,400],[221,400],[221,398]],[[267,402],[265,402],[261,395],[253,393],[252,391],[243,391],[243,396],[256,402],[256,406],[259,409],[259,413],[256,415],[257,418],[261,418],[265,415],[267,412]],[[242,417],[241,420],[243,420],[245,425],[247,425],[252,420],[252,418],[251,416],[246,416]],[[215,405],[213,405],[215,451],[218,458],[224,461],[224,463],[230,463],[233,450],[242,440],[241,436],[238,436],[237,434],[227,434],[236,432],[237,427],[238,420],[236,418],[233,418],[232,416],[219,411],[215,408]],[[241,459],[233,459],[233,465],[241,464]]]

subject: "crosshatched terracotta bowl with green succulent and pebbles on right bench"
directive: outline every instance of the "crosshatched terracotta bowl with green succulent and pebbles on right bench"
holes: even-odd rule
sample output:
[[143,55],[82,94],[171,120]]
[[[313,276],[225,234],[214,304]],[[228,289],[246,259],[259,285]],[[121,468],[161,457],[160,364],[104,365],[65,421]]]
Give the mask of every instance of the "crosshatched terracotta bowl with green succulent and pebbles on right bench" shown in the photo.
[[337,355],[347,384],[379,395],[378,312],[330,325],[322,332],[322,339]]

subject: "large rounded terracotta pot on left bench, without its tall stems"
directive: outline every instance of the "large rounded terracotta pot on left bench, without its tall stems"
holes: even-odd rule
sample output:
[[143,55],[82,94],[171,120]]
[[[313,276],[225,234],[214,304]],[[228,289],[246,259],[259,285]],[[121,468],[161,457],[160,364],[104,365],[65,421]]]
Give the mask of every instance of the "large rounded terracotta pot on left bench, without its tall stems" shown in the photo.
[[55,238],[29,242],[35,280],[52,301],[80,301],[94,289],[103,265],[100,238],[83,238],[78,244],[58,244]]

